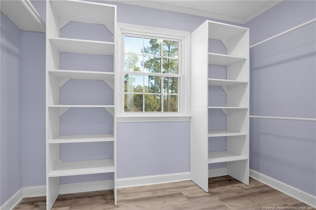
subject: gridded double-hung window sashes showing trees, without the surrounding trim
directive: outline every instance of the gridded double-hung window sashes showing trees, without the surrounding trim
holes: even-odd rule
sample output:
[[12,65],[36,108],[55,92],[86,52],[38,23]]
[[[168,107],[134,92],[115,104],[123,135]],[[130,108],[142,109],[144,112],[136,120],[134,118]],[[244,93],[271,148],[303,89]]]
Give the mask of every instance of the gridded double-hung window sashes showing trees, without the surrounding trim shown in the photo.
[[180,46],[180,40],[124,35],[124,112],[179,112]]

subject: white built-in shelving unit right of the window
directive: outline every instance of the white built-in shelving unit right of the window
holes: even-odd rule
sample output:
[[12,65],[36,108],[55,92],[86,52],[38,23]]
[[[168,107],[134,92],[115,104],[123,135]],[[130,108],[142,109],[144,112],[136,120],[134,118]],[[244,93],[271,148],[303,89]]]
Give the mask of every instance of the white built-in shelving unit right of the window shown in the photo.
[[[212,52],[212,49],[209,49],[210,39],[220,40],[227,48],[227,53]],[[209,72],[212,72],[214,65],[226,68],[226,78],[210,78]],[[226,104],[218,106],[209,104],[219,100],[209,93],[210,86],[219,86],[223,89],[226,94]],[[209,126],[209,121],[215,120],[209,113],[213,109],[221,110],[225,114],[226,130],[213,129],[212,124]],[[191,114],[191,179],[208,192],[208,177],[214,176],[208,174],[211,173],[208,165],[227,163],[227,175],[248,185],[249,30],[247,28],[206,21],[191,34]],[[226,140],[226,150],[209,152],[210,141],[219,137]]]

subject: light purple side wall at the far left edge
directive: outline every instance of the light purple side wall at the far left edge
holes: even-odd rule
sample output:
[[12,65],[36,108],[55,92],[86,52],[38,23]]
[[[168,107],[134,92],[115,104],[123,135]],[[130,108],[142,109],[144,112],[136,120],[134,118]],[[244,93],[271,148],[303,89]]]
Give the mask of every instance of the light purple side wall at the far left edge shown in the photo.
[[22,186],[21,173],[21,31],[0,14],[0,205]]

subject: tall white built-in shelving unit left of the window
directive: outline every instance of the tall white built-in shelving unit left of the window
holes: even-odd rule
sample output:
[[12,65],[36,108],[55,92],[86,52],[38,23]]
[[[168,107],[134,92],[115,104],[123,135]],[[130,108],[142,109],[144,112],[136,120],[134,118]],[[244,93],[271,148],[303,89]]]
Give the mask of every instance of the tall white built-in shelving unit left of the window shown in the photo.
[[[46,4],[46,207],[50,210],[60,194],[60,177],[113,173],[116,190],[116,117],[112,105],[60,104],[60,88],[70,79],[104,80],[114,91],[112,72],[61,70],[60,52],[114,56],[113,42],[60,37],[60,30],[70,21],[103,24],[115,37],[116,6],[80,0],[49,0]],[[114,97],[115,98],[115,97]],[[60,116],[69,108],[105,108],[113,116],[112,134],[60,135]],[[113,158],[87,161],[60,161],[63,143],[113,142]]]

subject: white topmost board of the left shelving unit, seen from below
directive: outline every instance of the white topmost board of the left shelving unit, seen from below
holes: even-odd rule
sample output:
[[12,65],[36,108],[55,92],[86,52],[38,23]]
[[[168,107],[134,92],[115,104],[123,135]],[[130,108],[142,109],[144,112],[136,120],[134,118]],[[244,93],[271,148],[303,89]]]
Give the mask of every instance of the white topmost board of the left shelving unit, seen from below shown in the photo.
[[[48,2],[48,1],[47,1]],[[50,0],[57,17],[60,17],[60,28],[69,21],[103,24],[114,34],[115,5],[82,0]]]

